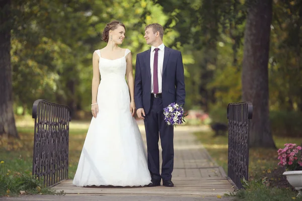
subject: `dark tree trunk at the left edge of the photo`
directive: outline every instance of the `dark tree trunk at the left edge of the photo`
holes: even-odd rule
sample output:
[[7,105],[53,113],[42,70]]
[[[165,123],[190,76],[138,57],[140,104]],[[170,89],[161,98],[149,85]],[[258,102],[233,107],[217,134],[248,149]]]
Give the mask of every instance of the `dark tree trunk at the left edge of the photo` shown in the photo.
[[13,111],[11,1],[0,1],[0,135],[19,138]]

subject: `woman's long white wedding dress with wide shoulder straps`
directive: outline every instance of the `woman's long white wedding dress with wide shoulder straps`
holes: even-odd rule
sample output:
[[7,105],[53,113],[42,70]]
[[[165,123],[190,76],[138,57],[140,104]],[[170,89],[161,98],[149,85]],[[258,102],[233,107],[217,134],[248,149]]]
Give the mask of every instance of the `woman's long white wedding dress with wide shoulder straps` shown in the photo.
[[134,117],[125,80],[126,49],[115,60],[98,53],[101,82],[92,118],[73,184],[77,186],[143,186],[150,183],[145,147]]

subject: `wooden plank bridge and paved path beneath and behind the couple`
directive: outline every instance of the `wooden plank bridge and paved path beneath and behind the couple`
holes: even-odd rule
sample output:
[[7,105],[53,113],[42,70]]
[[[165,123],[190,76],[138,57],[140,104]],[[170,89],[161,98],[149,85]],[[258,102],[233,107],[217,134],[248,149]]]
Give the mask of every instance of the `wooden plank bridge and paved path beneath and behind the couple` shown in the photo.
[[[143,125],[139,125],[145,141]],[[175,161],[172,173],[174,187],[77,187],[68,179],[53,186],[66,194],[102,195],[169,195],[169,196],[216,196],[233,192],[234,184],[225,172],[211,159],[202,144],[192,134],[205,127],[179,126],[175,128]]]

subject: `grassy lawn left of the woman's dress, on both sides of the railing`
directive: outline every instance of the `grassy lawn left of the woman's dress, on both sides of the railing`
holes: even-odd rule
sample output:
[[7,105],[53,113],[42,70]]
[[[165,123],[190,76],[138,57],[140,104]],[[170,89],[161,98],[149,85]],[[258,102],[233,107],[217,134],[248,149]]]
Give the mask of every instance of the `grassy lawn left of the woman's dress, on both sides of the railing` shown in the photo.
[[[34,120],[16,118],[18,139],[0,139],[0,161],[5,161],[5,171],[9,174],[31,174],[34,142]],[[71,121],[69,125],[69,171],[73,178],[80,159],[90,122]]]

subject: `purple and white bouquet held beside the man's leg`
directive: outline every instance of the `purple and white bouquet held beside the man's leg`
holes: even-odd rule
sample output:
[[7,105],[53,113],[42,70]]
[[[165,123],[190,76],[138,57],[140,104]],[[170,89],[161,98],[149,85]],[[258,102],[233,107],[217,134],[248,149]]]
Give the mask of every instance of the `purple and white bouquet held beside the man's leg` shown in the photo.
[[182,124],[186,122],[184,117],[187,115],[184,114],[184,109],[182,106],[172,103],[167,108],[164,108],[165,121],[170,126],[175,126],[177,124]]

